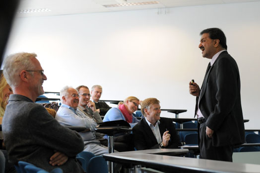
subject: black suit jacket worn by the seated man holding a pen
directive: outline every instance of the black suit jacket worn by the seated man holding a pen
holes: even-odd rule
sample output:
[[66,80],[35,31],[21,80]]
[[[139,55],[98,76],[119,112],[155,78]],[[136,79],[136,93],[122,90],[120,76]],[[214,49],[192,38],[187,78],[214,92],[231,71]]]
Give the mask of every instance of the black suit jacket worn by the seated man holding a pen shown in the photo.
[[[178,148],[181,146],[180,138],[176,133],[174,124],[170,118],[162,118],[160,119],[159,129],[161,133],[161,137],[165,131],[169,131],[171,134],[171,140],[166,148]],[[133,138],[134,138],[134,147],[137,150],[147,150],[147,149],[158,149],[159,144],[157,140],[147,124],[145,118],[143,118],[140,122],[138,122],[132,129]]]

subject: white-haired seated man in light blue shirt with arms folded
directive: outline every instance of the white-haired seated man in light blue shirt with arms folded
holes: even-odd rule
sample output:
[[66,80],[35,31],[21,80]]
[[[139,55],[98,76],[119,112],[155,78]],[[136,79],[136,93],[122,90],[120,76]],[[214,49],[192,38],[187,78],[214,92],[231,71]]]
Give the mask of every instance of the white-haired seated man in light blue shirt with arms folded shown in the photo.
[[108,149],[96,139],[95,127],[97,123],[93,118],[77,109],[79,98],[76,89],[65,86],[60,92],[60,97],[62,105],[57,111],[55,119],[65,126],[84,126],[90,129],[87,132],[79,132],[85,144],[84,151],[91,152],[96,156],[108,153]]

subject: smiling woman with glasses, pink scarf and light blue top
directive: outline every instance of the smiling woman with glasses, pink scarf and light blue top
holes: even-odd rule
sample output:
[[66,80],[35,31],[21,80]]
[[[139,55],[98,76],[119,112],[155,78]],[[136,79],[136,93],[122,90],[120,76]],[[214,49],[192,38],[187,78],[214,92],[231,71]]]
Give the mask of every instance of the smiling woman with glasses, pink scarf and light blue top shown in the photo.
[[103,122],[125,120],[130,124],[131,127],[133,127],[140,121],[133,116],[133,112],[137,110],[138,104],[138,98],[134,96],[127,97],[124,102],[119,103],[118,107],[109,109],[103,119]]

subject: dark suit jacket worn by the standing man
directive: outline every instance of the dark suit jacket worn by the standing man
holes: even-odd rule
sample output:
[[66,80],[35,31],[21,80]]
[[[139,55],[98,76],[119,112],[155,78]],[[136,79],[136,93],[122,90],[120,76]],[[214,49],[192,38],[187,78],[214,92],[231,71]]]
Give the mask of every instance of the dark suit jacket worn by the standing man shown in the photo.
[[[227,51],[219,55],[205,75],[200,90],[199,109],[206,119],[206,126],[214,130],[213,146],[245,142],[239,70]],[[196,111],[197,106],[195,114]]]

